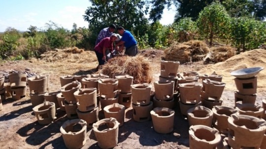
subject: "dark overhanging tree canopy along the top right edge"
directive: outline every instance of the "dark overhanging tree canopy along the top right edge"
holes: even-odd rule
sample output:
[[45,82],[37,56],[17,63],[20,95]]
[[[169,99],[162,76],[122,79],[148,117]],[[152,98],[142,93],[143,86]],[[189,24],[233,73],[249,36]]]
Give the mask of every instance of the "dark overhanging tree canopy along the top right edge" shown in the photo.
[[212,2],[221,2],[232,17],[250,16],[258,20],[266,18],[266,0],[150,0],[152,9],[150,20],[159,21],[165,7],[174,4],[176,9],[175,22],[190,17],[193,21],[198,19],[199,12]]

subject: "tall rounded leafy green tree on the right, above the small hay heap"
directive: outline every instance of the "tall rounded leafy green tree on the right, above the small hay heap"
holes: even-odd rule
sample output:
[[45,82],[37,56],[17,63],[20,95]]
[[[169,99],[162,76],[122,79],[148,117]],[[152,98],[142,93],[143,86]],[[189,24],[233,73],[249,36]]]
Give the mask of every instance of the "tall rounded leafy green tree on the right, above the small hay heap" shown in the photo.
[[219,2],[213,2],[199,13],[197,20],[199,33],[209,39],[211,46],[214,37],[227,38],[229,36],[230,19],[225,7]]

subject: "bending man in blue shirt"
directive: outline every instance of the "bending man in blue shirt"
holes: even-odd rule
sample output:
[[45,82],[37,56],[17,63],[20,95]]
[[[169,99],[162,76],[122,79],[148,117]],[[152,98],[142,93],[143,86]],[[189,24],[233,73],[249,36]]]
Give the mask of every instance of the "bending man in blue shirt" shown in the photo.
[[137,54],[137,42],[132,35],[132,33],[128,30],[125,30],[123,27],[119,26],[117,28],[118,33],[122,36],[120,42],[117,46],[124,44],[126,47],[125,55],[136,56]]

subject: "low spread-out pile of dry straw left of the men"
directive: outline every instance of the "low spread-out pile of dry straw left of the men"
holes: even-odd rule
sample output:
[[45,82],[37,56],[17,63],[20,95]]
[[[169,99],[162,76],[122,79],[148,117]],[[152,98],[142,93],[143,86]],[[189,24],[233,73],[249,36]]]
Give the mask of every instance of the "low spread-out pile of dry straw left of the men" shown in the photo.
[[46,62],[70,62],[70,63],[89,63],[97,61],[94,51],[84,51],[76,47],[67,49],[56,49],[40,55]]

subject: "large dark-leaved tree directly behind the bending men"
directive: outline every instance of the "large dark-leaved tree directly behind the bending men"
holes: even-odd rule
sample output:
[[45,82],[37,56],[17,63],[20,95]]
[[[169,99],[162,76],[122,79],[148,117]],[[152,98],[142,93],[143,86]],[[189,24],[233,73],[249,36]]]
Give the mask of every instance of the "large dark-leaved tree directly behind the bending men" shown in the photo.
[[133,31],[134,35],[144,36],[148,28],[148,5],[144,0],[89,0],[91,7],[85,12],[84,20],[89,22],[95,42],[100,29],[110,24],[121,25]]

